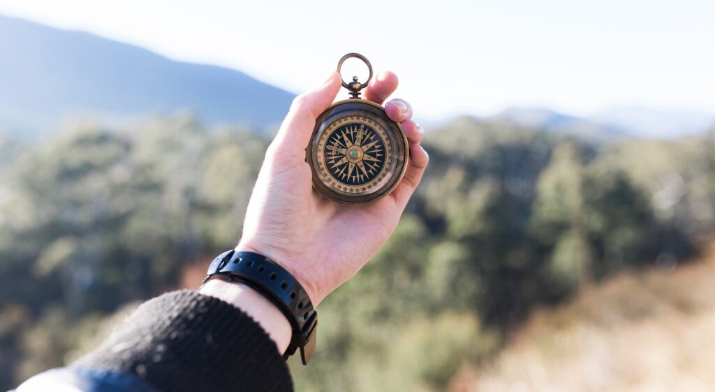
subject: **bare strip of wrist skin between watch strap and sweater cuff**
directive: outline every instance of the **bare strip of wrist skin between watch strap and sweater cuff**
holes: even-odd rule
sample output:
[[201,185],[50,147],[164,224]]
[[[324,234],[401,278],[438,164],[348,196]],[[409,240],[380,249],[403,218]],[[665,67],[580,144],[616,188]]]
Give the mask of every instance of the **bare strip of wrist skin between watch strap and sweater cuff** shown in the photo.
[[275,342],[280,355],[285,353],[292,328],[280,309],[256,290],[243,283],[229,283],[212,279],[202,286],[199,293],[224,300],[250,315]]

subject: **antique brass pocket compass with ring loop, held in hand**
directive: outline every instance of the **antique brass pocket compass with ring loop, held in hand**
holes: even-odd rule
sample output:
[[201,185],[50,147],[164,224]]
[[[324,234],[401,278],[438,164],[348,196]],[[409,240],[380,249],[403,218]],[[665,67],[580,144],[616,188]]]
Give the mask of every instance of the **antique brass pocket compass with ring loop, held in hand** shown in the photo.
[[305,160],[315,190],[334,202],[364,205],[388,195],[402,180],[410,150],[407,137],[382,106],[360,99],[360,90],[373,78],[373,66],[362,54],[349,53],[337,63],[356,57],[368,66],[364,83],[342,81],[350,99],[335,102],[315,121]]

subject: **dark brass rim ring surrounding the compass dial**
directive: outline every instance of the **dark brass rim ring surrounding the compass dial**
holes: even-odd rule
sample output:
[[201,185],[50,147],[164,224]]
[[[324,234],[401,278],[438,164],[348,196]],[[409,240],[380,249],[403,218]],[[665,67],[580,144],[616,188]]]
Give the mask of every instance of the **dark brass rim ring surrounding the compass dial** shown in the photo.
[[[392,150],[392,164],[391,167],[388,168],[388,175],[375,186],[375,189],[371,189],[367,192],[341,192],[325,184],[317,172],[317,170],[320,170],[318,167],[320,165],[320,159],[318,158],[321,152],[317,151],[320,137],[325,134],[331,124],[347,117],[346,114],[350,112],[355,112],[356,114],[354,115],[356,117],[370,119],[378,123],[380,127],[383,127],[388,136],[388,140],[384,142],[386,147],[389,144]],[[408,140],[400,124],[390,119],[382,106],[366,99],[345,99],[330,105],[325,112],[322,112],[322,114],[317,117],[315,128],[310,137],[310,144],[306,147],[305,151],[305,160],[308,165],[310,165],[312,185],[315,190],[327,199],[342,205],[365,205],[389,195],[405,175],[410,155]],[[385,165],[386,164],[385,162]]]

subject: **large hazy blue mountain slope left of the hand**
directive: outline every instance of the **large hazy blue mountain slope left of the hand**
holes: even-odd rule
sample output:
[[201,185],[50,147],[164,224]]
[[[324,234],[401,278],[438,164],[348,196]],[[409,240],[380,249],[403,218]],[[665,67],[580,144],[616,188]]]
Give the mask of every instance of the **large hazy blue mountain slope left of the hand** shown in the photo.
[[117,124],[183,109],[262,129],[292,98],[233,69],[0,16],[0,132],[38,137],[71,119]]

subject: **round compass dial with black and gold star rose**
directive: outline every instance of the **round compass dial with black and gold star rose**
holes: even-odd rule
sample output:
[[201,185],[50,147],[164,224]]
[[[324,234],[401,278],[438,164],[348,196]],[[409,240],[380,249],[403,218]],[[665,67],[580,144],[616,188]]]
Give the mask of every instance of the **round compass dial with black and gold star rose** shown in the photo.
[[[372,119],[346,117],[330,124],[318,151],[327,185],[346,193],[372,190],[389,170],[392,149],[385,129]],[[327,173],[326,173],[327,171]]]

